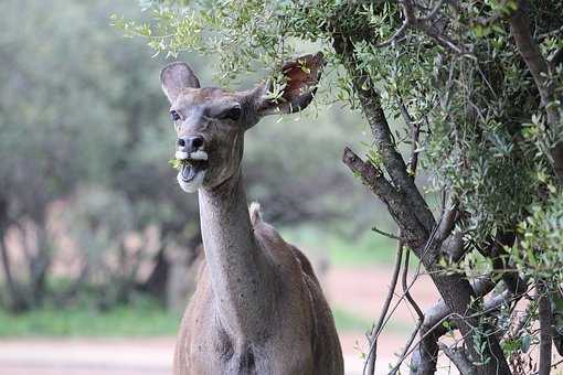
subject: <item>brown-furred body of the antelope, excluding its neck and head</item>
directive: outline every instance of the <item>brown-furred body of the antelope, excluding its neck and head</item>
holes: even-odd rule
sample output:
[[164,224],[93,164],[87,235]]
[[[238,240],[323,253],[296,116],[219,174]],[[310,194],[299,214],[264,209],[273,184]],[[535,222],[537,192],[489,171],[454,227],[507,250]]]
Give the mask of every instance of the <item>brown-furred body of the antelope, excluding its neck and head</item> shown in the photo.
[[[277,291],[283,298],[276,302],[279,310],[275,330],[265,332],[263,342],[248,342],[237,350],[236,339],[209,315],[213,292],[203,264],[195,296],[182,320],[174,374],[343,374],[332,313],[309,260],[267,223],[257,221],[253,228],[258,243],[270,248],[268,253],[284,279]],[[252,366],[249,353],[254,357]]]

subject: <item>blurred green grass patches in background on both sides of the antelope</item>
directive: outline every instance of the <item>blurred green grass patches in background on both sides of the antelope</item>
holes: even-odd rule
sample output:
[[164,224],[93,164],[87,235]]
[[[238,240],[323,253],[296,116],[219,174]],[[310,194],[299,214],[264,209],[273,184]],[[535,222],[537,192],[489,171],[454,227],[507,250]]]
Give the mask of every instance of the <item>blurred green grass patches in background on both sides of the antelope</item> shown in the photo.
[[[367,232],[343,236],[328,228],[300,226],[282,231],[285,239],[299,246],[311,259],[328,255],[332,266],[365,267],[389,265],[395,256],[395,242]],[[371,322],[346,307],[333,309],[339,331],[367,331]],[[176,335],[180,315],[168,312],[156,301],[139,297],[127,306],[99,311],[87,301],[61,308],[46,306],[12,315],[0,309],[0,338],[7,336],[163,336]]]

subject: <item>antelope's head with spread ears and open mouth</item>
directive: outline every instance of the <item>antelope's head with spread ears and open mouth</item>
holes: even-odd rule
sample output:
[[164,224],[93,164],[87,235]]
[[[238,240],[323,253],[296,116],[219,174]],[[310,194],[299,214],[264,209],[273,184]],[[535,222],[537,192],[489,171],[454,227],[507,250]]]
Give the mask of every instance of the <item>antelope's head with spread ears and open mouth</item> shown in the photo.
[[315,96],[322,54],[301,56],[282,66],[282,79],[245,92],[200,87],[185,63],[172,63],[160,74],[162,90],[178,136],[178,183],[185,192],[213,189],[235,175],[241,165],[244,132],[262,117],[306,108]]

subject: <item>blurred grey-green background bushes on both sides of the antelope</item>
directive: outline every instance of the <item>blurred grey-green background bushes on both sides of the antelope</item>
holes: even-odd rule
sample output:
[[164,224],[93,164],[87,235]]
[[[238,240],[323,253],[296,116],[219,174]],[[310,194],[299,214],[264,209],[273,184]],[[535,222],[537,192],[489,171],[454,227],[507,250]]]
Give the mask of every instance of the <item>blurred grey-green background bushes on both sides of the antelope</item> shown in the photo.
[[[181,301],[169,293],[170,274],[179,266],[185,279],[194,272],[198,197],[179,189],[167,162],[174,131],[159,71],[171,58],[152,57],[146,41],[125,39],[110,26],[111,13],[150,17],[125,0],[8,0],[0,13],[7,30],[0,39],[0,310],[31,310],[24,322],[56,315],[53,306],[62,301],[71,331],[73,319],[88,317],[87,306],[93,314],[113,311],[104,315],[111,325],[129,312],[110,308],[137,307],[139,293],[161,306]],[[178,60],[204,86],[216,84],[210,58],[182,53]],[[265,77],[241,78],[246,89]],[[325,93],[333,78],[327,72]],[[369,140],[364,121],[321,97],[315,101],[322,105],[272,116],[248,131],[248,197],[290,242],[332,266],[389,262],[390,242],[370,228],[389,227],[390,217],[340,160],[346,144]],[[64,287],[52,285],[60,279]],[[83,306],[84,298],[92,303]]]

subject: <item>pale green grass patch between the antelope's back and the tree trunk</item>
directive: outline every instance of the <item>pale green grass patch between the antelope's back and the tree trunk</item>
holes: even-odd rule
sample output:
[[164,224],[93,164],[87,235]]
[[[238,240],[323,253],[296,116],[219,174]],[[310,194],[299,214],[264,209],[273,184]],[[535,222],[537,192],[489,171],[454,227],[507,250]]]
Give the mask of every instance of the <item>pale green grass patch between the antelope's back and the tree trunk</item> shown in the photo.
[[328,255],[334,266],[389,265],[395,256],[396,242],[373,232],[351,238],[314,226],[283,228],[280,232],[286,240],[307,254]]

